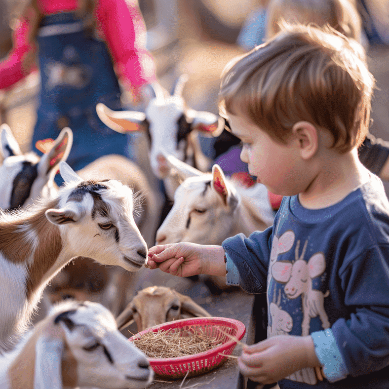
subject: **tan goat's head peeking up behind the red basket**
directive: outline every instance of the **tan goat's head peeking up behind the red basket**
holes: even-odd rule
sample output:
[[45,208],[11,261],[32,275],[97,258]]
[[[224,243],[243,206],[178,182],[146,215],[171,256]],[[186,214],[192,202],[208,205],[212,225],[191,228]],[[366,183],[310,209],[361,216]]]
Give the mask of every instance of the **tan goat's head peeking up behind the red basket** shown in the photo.
[[143,331],[173,320],[205,316],[211,315],[189,296],[165,286],[150,286],[133,297],[116,322],[123,330],[135,321],[138,331]]

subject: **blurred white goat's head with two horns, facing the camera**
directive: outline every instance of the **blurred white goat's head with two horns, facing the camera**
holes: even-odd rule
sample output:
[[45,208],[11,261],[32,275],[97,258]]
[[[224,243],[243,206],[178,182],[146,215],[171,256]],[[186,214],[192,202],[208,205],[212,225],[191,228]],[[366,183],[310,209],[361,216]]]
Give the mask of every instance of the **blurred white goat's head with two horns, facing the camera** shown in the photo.
[[201,171],[207,171],[211,160],[201,151],[198,134],[218,136],[225,125],[224,119],[214,113],[196,111],[186,106],[182,97],[186,80],[187,76],[182,75],[173,95],[167,97],[160,85],[155,84],[155,97],[149,101],[144,113],[113,111],[102,103],[96,105],[99,118],[111,129],[122,133],[146,132],[152,172],[164,179],[165,189],[171,198],[178,184],[171,179],[169,169],[164,165],[161,156],[174,155]]

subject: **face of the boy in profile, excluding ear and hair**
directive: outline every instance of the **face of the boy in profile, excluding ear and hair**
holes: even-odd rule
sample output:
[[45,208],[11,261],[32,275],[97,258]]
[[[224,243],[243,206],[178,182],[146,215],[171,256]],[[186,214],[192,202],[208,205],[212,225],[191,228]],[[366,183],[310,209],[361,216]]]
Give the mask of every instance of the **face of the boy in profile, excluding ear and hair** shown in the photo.
[[229,114],[231,132],[242,140],[241,160],[257,182],[277,195],[292,196],[303,190],[303,164],[293,140],[276,142],[258,126],[241,115]]

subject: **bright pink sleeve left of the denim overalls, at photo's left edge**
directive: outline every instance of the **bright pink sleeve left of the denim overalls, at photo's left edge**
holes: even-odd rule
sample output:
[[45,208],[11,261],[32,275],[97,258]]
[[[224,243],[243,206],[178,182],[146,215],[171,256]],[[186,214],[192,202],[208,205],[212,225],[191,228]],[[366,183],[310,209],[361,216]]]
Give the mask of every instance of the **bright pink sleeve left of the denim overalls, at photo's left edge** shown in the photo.
[[9,55],[0,62],[0,89],[13,86],[28,75],[32,69],[25,69],[22,60],[34,48],[28,44],[29,26],[25,20],[18,21],[13,35],[13,48]]

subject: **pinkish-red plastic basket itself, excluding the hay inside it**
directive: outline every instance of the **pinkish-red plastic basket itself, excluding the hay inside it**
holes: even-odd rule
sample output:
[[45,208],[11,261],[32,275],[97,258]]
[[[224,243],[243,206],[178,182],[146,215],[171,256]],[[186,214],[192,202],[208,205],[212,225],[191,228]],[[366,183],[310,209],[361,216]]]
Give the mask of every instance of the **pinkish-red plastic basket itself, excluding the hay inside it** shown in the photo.
[[140,337],[149,331],[158,332],[159,330],[172,330],[176,332],[178,330],[185,335],[187,331],[192,331],[197,328],[201,328],[206,335],[216,337],[217,341],[222,342],[222,344],[203,353],[185,357],[148,358],[150,366],[155,374],[166,378],[182,378],[186,373],[188,373],[188,377],[192,377],[213,370],[227,360],[227,357],[223,357],[220,354],[231,354],[232,350],[234,350],[237,345],[237,342],[226,334],[241,340],[246,332],[245,325],[239,320],[218,317],[191,318],[176,320],[147,328],[146,330],[135,334],[129,340],[133,341],[134,338]]

